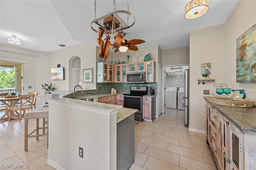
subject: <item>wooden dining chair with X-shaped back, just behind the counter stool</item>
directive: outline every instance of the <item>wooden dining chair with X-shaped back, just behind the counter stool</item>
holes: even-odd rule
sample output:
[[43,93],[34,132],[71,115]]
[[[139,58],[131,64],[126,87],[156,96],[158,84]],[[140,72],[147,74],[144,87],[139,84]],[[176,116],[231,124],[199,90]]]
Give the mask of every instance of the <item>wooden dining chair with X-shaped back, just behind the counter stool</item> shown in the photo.
[[[21,116],[26,113],[26,110],[29,111],[29,109],[32,110],[33,102],[34,102],[35,94],[20,94],[18,98],[20,98],[20,104],[15,107],[10,107],[10,113],[12,111],[18,113],[19,115],[19,121],[21,120]],[[23,111],[23,112],[22,112]],[[14,115],[16,116],[16,115]],[[11,115],[9,115],[9,118]]]

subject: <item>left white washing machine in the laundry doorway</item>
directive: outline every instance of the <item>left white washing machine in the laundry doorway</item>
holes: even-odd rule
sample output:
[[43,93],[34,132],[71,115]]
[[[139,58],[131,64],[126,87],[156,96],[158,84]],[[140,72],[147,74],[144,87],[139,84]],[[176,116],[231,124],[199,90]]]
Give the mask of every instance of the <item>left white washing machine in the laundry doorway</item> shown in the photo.
[[170,109],[177,109],[177,88],[165,88],[165,107]]

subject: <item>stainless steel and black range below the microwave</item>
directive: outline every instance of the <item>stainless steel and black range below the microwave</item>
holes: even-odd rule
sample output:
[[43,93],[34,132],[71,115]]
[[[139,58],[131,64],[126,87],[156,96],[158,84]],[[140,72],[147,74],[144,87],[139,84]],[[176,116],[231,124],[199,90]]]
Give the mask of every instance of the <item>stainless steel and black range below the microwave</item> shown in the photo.
[[124,107],[138,109],[135,120],[142,121],[142,96],[148,94],[148,87],[130,87],[130,93],[124,94]]

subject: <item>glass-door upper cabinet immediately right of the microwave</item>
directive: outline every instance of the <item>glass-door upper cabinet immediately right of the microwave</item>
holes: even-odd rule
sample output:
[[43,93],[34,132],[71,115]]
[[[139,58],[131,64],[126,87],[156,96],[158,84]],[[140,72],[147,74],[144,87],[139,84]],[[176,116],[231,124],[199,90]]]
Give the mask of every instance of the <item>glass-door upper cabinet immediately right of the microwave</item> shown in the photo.
[[145,61],[146,75],[145,82],[156,82],[156,62],[155,61]]

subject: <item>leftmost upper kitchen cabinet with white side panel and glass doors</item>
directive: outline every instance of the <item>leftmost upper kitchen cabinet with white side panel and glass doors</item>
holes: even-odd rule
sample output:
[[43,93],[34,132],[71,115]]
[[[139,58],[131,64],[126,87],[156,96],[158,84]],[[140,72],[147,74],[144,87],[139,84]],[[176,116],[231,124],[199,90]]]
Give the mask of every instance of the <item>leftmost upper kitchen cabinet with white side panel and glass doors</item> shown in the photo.
[[108,83],[114,82],[114,67],[108,63],[97,63],[97,82]]

